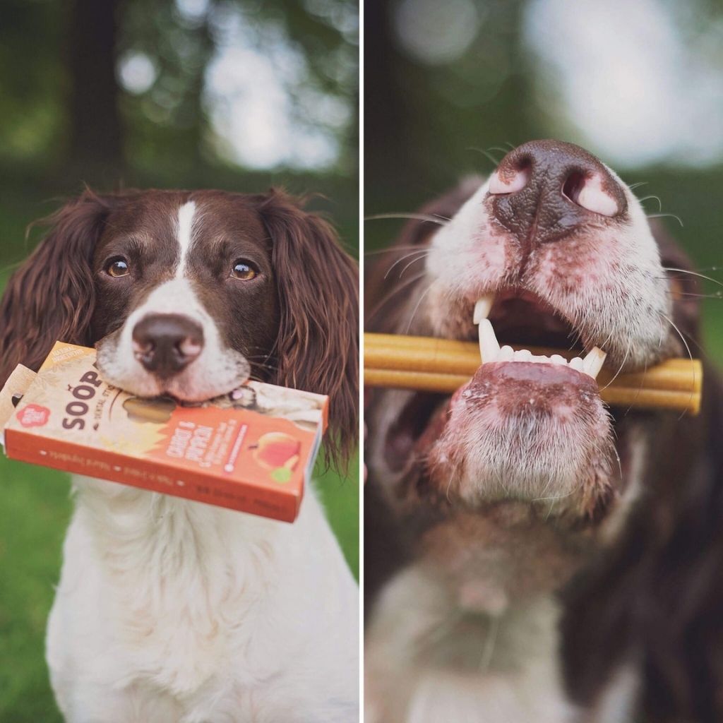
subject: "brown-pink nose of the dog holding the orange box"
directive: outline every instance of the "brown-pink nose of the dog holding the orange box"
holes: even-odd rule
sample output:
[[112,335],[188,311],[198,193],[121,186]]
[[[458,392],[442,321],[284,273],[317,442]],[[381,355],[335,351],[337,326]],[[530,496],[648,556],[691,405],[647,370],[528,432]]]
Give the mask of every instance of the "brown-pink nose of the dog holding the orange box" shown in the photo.
[[203,349],[203,330],[181,314],[149,314],[133,328],[133,353],[161,378],[185,369]]

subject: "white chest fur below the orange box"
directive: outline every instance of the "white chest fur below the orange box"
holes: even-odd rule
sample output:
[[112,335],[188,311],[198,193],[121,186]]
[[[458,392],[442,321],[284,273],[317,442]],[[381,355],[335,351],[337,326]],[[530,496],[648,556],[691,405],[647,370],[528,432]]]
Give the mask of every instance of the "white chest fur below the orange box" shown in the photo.
[[74,487],[47,640],[69,722],[356,720],[356,583],[312,491],[286,525]]

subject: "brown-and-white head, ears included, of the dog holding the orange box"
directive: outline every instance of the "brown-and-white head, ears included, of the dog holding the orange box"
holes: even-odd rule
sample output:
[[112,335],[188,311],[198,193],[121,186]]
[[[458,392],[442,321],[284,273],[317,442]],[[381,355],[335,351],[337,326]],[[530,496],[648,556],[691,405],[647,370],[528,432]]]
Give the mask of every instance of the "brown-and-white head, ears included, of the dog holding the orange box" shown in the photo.
[[48,223],[4,295],[0,383],[56,340],[94,344],[142,397],[202,401],[253,375],[330,395],[331,451],[348,453],[356,268],[328,223],[278,191],[87,191]]

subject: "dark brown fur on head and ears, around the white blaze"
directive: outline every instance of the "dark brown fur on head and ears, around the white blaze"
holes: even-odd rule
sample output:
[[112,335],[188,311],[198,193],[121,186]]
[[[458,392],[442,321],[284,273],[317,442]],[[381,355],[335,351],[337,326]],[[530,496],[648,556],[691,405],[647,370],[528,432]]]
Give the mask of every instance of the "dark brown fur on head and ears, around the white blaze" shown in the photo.
[[[169,209],[189,192],[87,190],[43,223],[46,238],[10,279],[0,307],[0,385],[17,364],[37,369],[57,340],[93,345],[176,262]],[[267,194],[194,192],[202,202],[205,263],[193,268],[208,312],[226,343],[274,384],[330,395],[329,458],[348,459],[358,407],[356,265],[333,228],[299,199]],[[122,253],[133,278],[104,275]],[[262,283],[228,281],[228,258],[252,257]],[[218,267],[218,268],[216,268]],[[182,302],[182,300],[179,300]]]

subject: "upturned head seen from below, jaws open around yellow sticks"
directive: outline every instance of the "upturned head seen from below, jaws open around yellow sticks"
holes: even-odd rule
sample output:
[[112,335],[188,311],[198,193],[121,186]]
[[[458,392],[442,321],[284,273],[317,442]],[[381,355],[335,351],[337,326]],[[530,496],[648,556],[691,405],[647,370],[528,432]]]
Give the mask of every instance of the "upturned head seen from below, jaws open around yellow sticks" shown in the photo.
[[[616,422],[604,408],[593,350],[613,374],[688,355],[696,285],[667,271],[682,254],[656,240],[612,170],[568,143],[521,145],[487,181],[425,211],[439,225],[416,221],[403,234],[397,258],[422,249],[408,256],[409,276],[391,282],[403,293],[390,290],[394,274],[382,277],[394,258],[368,287],[372,305],[383,297],[372,325],[476,340],[479,322],[484,364],[451,398],[378,394],[372,472],[395,500],[467,510],[522,500],[553,518],[601,518],[643,451],[636,414],[621,410]],[[513,344],[572,348],[578,359]]]

